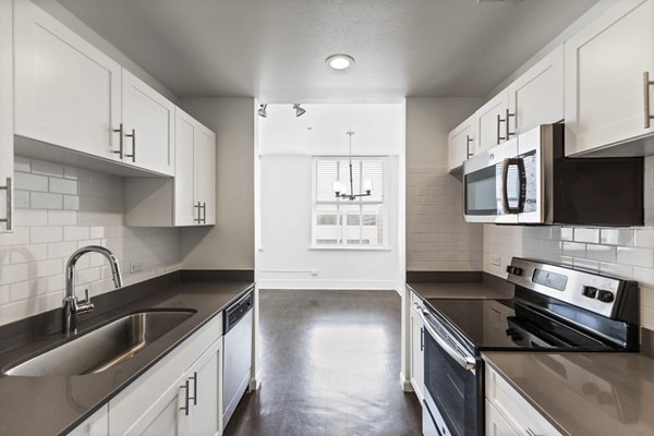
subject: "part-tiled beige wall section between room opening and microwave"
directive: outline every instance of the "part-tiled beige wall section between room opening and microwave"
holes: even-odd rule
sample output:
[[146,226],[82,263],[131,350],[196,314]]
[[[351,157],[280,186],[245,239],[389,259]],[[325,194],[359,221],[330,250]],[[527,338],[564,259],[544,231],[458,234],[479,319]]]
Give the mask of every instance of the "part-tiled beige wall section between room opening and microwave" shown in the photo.
[[483,227],[463,220],[463,185],[448,173],[447,136],[477,98],[407,99],[407,270],[481,270]]

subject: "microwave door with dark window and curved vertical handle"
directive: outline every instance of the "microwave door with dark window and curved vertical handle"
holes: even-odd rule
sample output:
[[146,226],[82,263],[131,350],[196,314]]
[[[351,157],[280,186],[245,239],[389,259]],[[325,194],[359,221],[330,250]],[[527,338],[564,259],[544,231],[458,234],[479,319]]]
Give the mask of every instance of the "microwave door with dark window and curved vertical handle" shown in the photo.
[[524,171],[516,138],[475,155],[463,166],[468,222],[518,223],[524,205]]

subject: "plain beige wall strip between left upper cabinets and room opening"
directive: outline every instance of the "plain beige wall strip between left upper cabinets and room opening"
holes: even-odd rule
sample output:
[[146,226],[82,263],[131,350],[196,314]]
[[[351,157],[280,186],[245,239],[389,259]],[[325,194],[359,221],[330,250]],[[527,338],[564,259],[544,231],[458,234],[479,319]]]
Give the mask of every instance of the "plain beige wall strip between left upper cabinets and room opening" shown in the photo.
[[182,230],[187,269],[254,269],[254,99],[186,98],[216,132],[216,226]]

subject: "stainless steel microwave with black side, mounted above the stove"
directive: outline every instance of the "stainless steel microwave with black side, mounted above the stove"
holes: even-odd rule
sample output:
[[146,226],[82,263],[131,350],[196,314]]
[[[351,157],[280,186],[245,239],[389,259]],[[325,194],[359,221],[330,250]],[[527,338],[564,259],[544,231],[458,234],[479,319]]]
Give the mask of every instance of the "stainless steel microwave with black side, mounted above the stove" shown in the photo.
[[643,158],[566,158],[564,129],[540,125],[465,161],[465,220],[642,226]]

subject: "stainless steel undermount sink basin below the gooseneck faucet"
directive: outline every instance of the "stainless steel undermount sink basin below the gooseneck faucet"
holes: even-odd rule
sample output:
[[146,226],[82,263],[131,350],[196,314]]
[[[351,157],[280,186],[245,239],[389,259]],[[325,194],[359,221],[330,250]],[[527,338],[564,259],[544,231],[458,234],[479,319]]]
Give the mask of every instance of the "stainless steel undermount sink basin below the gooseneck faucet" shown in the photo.
[[126,315],[15,365],[4,374],[44,377],[101,373],[133,358],[194,313],[193,310],[171,310]]

